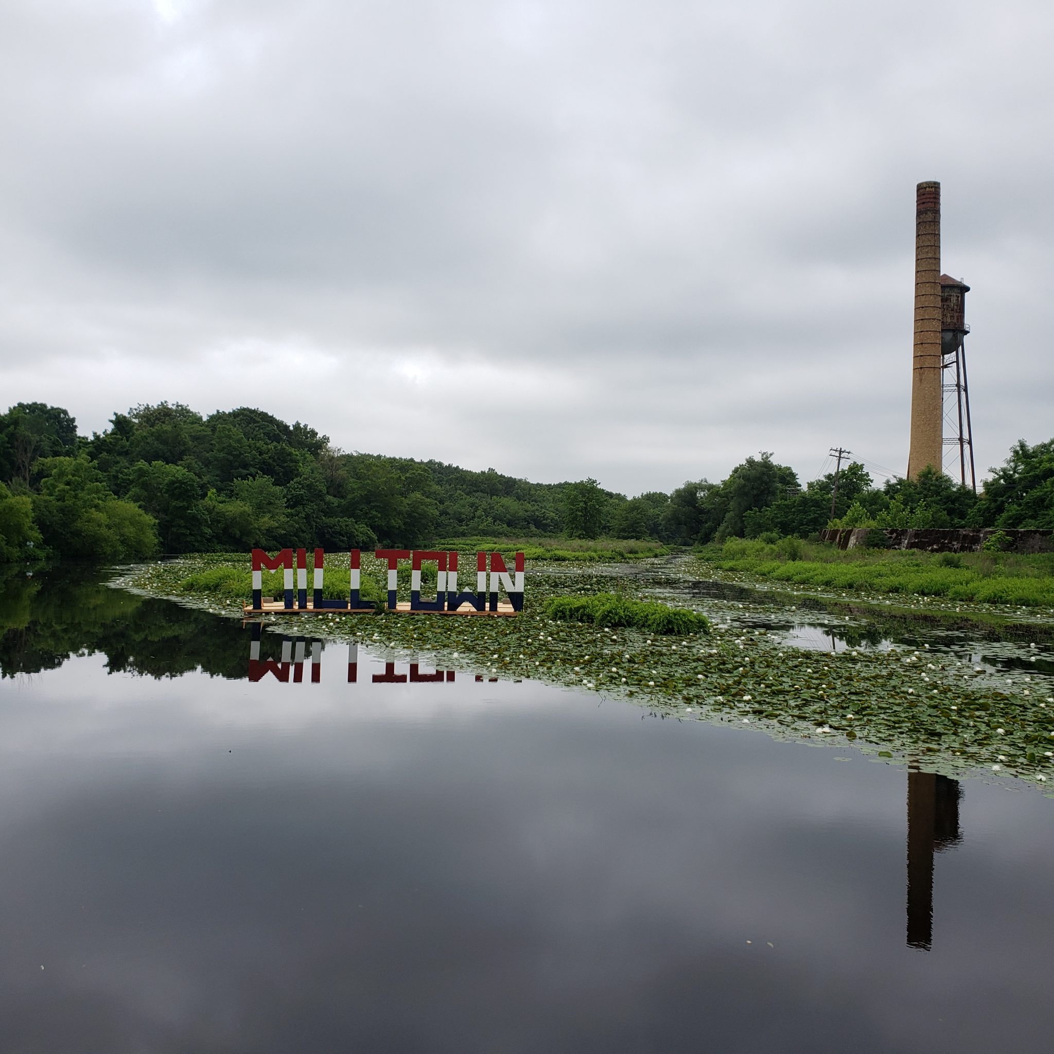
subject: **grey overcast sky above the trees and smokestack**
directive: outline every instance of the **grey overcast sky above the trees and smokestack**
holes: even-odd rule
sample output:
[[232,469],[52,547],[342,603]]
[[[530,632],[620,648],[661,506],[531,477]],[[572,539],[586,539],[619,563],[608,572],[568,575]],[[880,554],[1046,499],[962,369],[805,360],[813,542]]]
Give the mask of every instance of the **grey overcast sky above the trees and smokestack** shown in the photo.
[[4,0],[0,409],[258,406],[636,493],[903,472],[915,184],[979,467],[1054,434],[1054,6]]

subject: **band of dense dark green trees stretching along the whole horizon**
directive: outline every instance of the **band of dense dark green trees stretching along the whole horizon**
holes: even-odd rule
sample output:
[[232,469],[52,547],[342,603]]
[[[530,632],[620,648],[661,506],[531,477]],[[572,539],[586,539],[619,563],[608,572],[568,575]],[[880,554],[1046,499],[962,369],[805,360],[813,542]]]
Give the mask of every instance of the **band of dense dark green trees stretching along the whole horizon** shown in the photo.
[[[719,483],[626,497],[596,480],[542,484],[436,461],[347,453],[309,425],[241,407],[202,416],[180,404],[115,413],[79,435],[61,407],[0,415],[0,562],[48,553],[139,560],[262,546],[421,547],[437,539],[657,539],[676,544],[796,534],[832,520],[833,473],[802,487],[772,454]],[[1054,440],[1023,441],[984,492],[923,474],[838,479],[846,526],[1054,527]]]

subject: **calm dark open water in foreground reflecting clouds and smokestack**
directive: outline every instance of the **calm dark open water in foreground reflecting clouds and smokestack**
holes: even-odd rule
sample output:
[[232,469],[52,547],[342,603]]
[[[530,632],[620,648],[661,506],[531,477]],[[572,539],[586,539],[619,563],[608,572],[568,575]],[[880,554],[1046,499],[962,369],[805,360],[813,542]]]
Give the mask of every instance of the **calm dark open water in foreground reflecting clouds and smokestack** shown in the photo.
[[257,662],[91,581],[0,617],[4,1052],[1054,1046],[1033,790],[362,647]]

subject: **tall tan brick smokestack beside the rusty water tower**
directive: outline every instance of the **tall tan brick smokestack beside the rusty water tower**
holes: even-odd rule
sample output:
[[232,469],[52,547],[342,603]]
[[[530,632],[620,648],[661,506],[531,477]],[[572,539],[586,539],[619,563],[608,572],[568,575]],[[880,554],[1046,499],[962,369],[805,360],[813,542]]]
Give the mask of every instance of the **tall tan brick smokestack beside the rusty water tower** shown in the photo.
[[915,353],[907,477],[928,465],[941,471],[943,397],[940,354],[940,183],[915,191]]

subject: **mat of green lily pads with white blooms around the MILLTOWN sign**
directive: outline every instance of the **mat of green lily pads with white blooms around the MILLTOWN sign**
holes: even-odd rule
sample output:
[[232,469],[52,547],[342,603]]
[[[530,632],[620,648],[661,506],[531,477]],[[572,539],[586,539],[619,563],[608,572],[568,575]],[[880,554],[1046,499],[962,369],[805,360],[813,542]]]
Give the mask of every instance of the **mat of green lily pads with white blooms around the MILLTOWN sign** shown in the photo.
[[[243,569],[246,557],[236,559]],[[125,569],[114,584],[207,603],[211,610],[240,617],[240,601],[215,593],[195,597],[179,588],[219,563],[209,557],[139,565]],[[636,625],[558,620],[553,614],[560,605],[550,607],[550,601],[560,598],[568,610],[575,606],[567,601],[587,610],[599,593],[692,603],[695,562],[622,567],[529,563],[527,570],[527,601],[515,619],[335,611],[312,618],[310,627],[296,617],[265,621],[277,631],[355,639],[423,661],[431,658],[436,665],[454,662],[487,677],[531,678],[623,697],[667,717],[752,725],[795,740],[852,742],[948,775],[985,770],[1038,784],[1054,777],[1054,679],[1034,671],[1028,643],[1021,645],[1022,664],[1031,670],[1011,672],[949,651],[938,655],[922,643],[860,644],[837,653],[804,650],[759,628],[774,605],[764,593],[745,591],[737,592],[742,600],[731,602],[696,598],[696,611],[689,613],[705,607],[710,631],[696,629],[674,640]],[[793,608],[779,607],[783,614],[788,610]],[[865,609],[857,605],[854,610]],[[926,626],[938,618],[925,610]],[[953,618],[961,623],[965,616]]]

